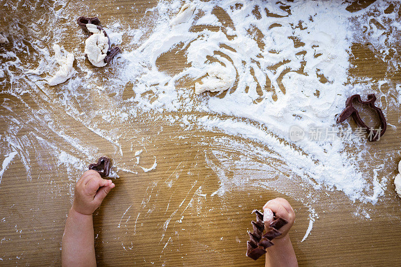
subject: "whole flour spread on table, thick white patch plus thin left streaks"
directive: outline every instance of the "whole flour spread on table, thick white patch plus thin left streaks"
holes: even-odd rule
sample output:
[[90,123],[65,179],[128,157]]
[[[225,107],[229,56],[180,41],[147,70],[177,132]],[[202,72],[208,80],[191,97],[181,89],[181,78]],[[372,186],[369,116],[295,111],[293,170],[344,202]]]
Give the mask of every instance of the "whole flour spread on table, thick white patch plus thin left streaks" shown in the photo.
[[[372,92],[374,86],[379,88],[373,91],[377,98],[385,99],[378,102],[384,113],[399,108],[398,84],[353,77],[349,72],[355,42],[368,42],[377,58],[389,62],[389,71],[398,69],[394,50],[399,42],[396,32],[401,29],[399,2],[375,1],[349,12],[347,1],[191,1],[190,12],[175,18],[183,4],[158,2],[137,21],[141,25],[137,28],[118,18],[109,24],[100,18],[112,45],[122,47],[118,58],[102,70],[107,72],[103,76],[85,64],[85,35],[75,25],[80,14],[72,7],[49,7],[51,16],[41,23],[41,38],[28,40],[35,62],[19,56],[27,49],[25,42],[17,35],[7,34],[7,28],[2,29],[11,43],[0,50],[0,83],[7,85],[3,93],[10,95],[2,103],[2,117],[9,126],[0,132],[0,151],[6,158],[0,177],[7,177],[7,164],[13,160],[22,160],[28,176],[31,175],[31,150],[35,143],[58,151],[51,153],[58,156],[58,164],[72,163],[82,168],[96,157],[97,147],[84,136],[75,137],[56,118],[54,114],[61,110],[88,132],[110,143],[117,172],[136,173],[139,167],[145,172],[157,170],[157,158],[154,163],[147,162],[153,163],[150,168],[139,166],[139,159],[134,159],[139,153],[133,156],[133,166],[118,161],[126,152],[121,143],[129,137],[129,133],[119,134],[125,132],[119,125],[138,114],[148,114],[186,130],[224,133],[223,137],[199,138],[200,144],[212,147],[205,151],[205,162],[220,178],[219,190],[213,195],[224,195],[233,188],[262,187],[310,206],[323,190],[337,190],[347,195],[350,202],[375,204],[387,189],[387,177],[378,171],[384,161],[373,167],[365,162],[366,157],[375,157],[366,152],[366,140],[352,134],[350,139],[335,134],[318,141],[306,136],[292,141],[289,131],[291,126],[306,133],[316,128],[338,131],[341,126],[335,123],[335,116],[343,109],[345,99],[354,93]],[[389,12],[391,4],[395,7]],[[61,23],[60,18],[66,18],[66,22]],[[39,23],[44,18],[35,19]],[[52,35],[47,35],[48,24],[54,29]],[[9,29],[13,25],[19,28],[18,21],[11,23]],[[53,43],[63,45],[69,39],[77,43],[72,50],[77,73],[58,85],[57,91],[51,90],[46,77],[54,73],[57,65],[50,47]],[[43,45],[44,40],[49,46]],[[163,58],[181,60],[184,65],[170,71],[162,64]],[[227,82],[222,86],[229,89],[195,94],[196,82],[209,82],[210,86],[211,80],[223,74]],[[389,86],[395,97],[381,92],[383,84]],[[127,87],[132,87],[129,90],[133,93],[124,98]],[[92,101],[91,93],[103,95],[102,102]],[[25,95],[32,96],[39,108],[28,104]],[[26,104],[21,116],[13,113],[18,101]],[[25,120],[27,116],[32,119]],[[104,122],[114,122],[116,129],[104,127]],[[68,148],[57,140],[19,134],[27,128],[39,135],[55,135]],[[140,145],[149,144],[144,140]],[[229,151],[238,153],[233,156]],[[393,156],[396,155],[389,155]],[[236,172],[238,168],[244,171]],[[254,170],[263,175],[247,175],[247,171],[255,174]],[[230,171],[234,174],[229,176]],[[304,191],[286,187],[290,184]],[[364,212],[360,212],[361,216],[365,216]],[[308,233],[312,224],[313,218]]]

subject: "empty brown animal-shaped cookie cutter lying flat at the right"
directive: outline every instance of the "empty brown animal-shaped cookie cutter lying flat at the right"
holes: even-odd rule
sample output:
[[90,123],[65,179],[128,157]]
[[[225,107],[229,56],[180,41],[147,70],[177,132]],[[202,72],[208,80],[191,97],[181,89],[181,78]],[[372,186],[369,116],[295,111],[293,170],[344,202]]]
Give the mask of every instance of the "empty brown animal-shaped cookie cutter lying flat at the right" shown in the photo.
[[[381,111],[380,108],[374,105],[374,102],[376,101],[376,95],[374,93],[369,93],[367,95],[367,101],[362,101],[360,98],[359,94],[354,94],[351,95],[347,98],[345,101],[345,109],[342,110],[340,115],[337,117],[337,123],[343,122],[345,119],[347,119],[349,116],[352,116],[352,118],[355,120],[356,124],[358,127],[366,129],[367,132],[371,131],[371,134],[368,136],[369,141],[377,141],[380,136],[382,136],[385,132],[385,129],[387,127],[387,122],[385,120],[383,111]],[[356,100],[360,104],[368,105],[370,108],[374,109],[379,117],[380,120],[380,135],[377,134],[377,131],[374,129],[369,128],[363,120],[360,118],[358,110],[352,105],[353,101]],[[371,136],[373,135],[373,136]]]

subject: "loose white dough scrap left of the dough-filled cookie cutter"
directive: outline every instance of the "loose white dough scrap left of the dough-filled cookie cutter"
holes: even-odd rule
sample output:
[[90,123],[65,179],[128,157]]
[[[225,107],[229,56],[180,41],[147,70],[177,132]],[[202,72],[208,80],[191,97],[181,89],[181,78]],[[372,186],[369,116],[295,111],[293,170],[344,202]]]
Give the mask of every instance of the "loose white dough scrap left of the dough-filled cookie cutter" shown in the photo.
[[61,48],[58,44],[53,45],[53,50],[55,52],[56,61],[59,63],[60,67],[56,74],[54,74],[54,76],[48,80],[50,86],[65,82],[75,73],[75,70],[72,66],[75,59],[74,54],[66,51],[66,56],[61,55]]

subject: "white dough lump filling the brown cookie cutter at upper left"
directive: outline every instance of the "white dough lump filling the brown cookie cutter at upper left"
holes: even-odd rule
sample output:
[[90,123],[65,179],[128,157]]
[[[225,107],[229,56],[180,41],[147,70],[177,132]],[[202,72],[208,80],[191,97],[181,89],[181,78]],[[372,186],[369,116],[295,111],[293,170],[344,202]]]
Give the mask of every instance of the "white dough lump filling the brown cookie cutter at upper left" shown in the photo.
[[85,54],[92,65],[97,67],[105,66],[107,63],[104,62],[104,58],[109,49],[109,39],[96,25],[88,23],[86,27],[93,34],[85,40]]

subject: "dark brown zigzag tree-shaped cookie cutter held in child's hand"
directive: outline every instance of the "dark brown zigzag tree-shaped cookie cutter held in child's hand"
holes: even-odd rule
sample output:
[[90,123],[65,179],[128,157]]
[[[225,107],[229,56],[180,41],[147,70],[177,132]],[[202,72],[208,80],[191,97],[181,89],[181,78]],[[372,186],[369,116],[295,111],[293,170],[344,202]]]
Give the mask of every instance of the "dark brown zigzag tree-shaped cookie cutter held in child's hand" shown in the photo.
[[247,256],[257,260],[261,255],[266,253],[266,248],[274,245],[272,240],[281,235],[279,229],[283,227],[288,221],[280,216],[274,215],[274,220],[269,224],[265,234],[265,222],[263,221],[263,213],[254,209],[252,213],[256,213],[256,222],[252,221],[254,228],[253,232],[248,232],[250,240],[247,241]]

